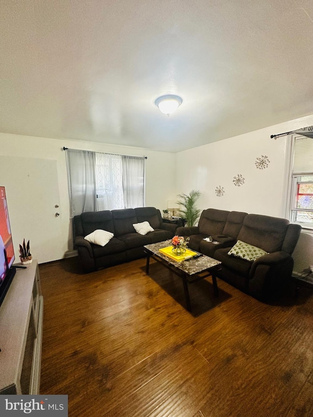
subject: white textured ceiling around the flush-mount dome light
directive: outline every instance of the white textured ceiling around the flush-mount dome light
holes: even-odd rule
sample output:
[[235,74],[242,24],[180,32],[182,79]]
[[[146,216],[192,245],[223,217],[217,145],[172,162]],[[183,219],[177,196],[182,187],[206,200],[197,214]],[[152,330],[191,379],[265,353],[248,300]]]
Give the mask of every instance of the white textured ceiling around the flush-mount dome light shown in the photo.
[[312,0],[0,0],[0,132],[178,152],[313,114],[312,81]]

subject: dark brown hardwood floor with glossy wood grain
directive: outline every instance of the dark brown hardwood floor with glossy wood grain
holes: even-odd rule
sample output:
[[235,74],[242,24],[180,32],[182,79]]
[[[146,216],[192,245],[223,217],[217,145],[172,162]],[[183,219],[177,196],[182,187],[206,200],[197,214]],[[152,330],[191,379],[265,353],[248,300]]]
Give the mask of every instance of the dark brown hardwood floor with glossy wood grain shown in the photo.
[[69,416],[313,416],[313,291],[262,304],[218,279],[190,286],[145,260],[81,274],[39,266],[41,393]]

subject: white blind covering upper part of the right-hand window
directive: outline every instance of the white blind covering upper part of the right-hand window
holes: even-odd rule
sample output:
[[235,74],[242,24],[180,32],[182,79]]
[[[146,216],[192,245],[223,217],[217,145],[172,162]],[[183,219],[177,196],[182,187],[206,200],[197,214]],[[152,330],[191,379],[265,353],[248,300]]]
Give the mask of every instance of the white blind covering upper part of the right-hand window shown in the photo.
[[294,144],[292,175],[313,173],[313,138],[297,137]]

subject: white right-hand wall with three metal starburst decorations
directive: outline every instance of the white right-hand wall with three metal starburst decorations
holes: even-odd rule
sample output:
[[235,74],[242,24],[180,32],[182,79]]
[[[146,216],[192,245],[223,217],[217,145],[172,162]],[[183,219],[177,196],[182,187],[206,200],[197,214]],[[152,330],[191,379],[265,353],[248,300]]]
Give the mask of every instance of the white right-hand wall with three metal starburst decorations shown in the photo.
[[[286,150],[290,136],[271,134],[313,125],[313,115],[193,148],[177,154],[177,193],[200,190],[199,208],[217,208],[274,217],[285,216]],[[269,159],[268,168],[255,166],[257,157]],[[187,167],[187,169],[186,169]],[[245,183],[233,184],[241,174]],[[224,187],[217,197],[216,187]],[[313,264],[313,235],[301,235],[293,254],[296,271]]]

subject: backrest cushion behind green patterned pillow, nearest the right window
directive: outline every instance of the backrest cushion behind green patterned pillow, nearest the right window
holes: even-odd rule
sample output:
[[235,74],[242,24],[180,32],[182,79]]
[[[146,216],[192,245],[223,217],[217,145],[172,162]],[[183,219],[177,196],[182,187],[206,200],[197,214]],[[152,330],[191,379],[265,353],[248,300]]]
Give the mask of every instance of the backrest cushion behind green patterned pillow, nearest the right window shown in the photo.
[[266,252],[282,250],[289,220],[248,214],[240,229],[238,240],[259,247]]

